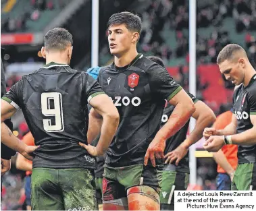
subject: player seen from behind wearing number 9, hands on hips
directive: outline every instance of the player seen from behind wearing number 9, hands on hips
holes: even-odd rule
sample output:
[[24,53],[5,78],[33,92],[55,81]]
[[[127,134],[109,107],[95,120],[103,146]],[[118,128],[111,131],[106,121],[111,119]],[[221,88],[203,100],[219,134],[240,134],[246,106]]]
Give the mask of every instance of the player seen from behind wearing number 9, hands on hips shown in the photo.
[[[46,65],[23,76],[1,98],[1,121],[22,109],[40,146],[34,151],[32,210],[97,210],[94,156],[107,150],[119,123],[118,111],[99,83],[69,66],[72,42],[67,30],[49,30],[41,50]],[[87,104],[103,121],[96,147],[89,145]],[[1,138],[17,141],[5,127]]]

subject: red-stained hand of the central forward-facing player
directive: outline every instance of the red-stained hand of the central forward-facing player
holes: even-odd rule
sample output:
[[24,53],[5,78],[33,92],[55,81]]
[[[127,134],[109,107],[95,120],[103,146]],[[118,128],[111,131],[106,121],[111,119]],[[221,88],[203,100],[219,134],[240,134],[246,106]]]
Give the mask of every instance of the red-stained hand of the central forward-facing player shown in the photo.
[[157,139],[153,139],[153,141],[149,144],[147,148],[147,152],[144,159],[144,164],[147,166],[147,162],[149,158],[153,167],[155,167],[155,158],[164,158],[163,151],[165,149],[165,141],[159,141]]

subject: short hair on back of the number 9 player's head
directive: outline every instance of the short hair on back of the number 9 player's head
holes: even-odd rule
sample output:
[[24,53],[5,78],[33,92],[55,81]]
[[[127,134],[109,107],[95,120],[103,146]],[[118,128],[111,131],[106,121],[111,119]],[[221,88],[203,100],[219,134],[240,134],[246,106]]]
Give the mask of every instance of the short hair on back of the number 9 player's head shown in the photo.
[[63,51],[73,44],[72,34],[65,28],[53,28],[45,34],[45,48],[47,50]]

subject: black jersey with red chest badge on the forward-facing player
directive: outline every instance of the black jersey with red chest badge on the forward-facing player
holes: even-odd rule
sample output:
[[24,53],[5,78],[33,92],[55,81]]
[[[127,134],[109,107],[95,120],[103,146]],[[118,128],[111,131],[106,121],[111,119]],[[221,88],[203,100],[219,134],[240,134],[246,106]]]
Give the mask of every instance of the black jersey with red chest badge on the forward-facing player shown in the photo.
[[143,163],[147,148],[160,129],[165,99],[170,100],[182,87],[168,71],[141,54],[127,67],[113,63],[102,67],[98,81],[120,114],[106,164],[124,167]]

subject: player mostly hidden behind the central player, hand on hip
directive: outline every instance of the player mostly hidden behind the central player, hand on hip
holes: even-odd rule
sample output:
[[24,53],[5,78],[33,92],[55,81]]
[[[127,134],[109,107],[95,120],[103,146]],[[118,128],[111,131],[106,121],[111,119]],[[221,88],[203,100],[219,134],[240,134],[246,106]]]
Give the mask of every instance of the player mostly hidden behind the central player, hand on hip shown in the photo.
[[[159,57],[147,57],[151,61],[164,67],[163,61]],[[195,128],[187,137],[189,120],[175,135],[166,141],[164,150],[165,165],[163,168],[163,181],[160,193],[161,210],[174,210],[174,190],[184,191],[188,187],[189,181],[189,156],[188,148],[198,142],[203,137],[203,129],[213,124],[216,117],[207,105],[198,100],[188,92],[188,95],[195,103],[195,112],[192,117],[197,120]],[[165,125],[172,115],[174,106],[167,104],[163,111],[161,127]]]

